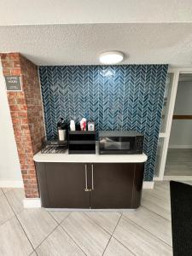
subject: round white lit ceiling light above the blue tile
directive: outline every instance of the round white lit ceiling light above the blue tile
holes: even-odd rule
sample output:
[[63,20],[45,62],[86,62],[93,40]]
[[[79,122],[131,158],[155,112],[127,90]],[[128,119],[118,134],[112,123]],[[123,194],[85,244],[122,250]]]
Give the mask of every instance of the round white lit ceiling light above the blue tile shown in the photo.
[[103,52],[99,56],[99,61],[102,62],[102,64],[107,64],[107,65],[117,64],[123,61],[123,59],[124,59],[123,53],[116,50]]

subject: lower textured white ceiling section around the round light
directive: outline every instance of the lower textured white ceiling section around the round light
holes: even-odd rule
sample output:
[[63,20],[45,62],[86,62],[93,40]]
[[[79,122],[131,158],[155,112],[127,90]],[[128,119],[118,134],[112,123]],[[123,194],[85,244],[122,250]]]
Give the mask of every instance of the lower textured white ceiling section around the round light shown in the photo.
[[117,49],[128,64],[192,66],[192,23],[0,26],[0,52],[20,52],[38,65],[100,64]]

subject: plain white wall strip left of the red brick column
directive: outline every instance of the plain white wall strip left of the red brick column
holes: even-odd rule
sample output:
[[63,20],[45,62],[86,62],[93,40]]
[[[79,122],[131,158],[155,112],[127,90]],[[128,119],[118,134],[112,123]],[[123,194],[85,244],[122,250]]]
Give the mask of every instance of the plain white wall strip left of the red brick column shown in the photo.
[[0,187],[22,187],[20,162],[0,60]]

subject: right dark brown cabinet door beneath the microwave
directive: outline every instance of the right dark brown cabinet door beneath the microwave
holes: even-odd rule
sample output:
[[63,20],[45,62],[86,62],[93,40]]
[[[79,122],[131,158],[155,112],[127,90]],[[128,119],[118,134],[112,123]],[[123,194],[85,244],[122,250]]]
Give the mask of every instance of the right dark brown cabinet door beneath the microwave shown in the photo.
[[131,208],[135,164],[94,164],[91,208]]

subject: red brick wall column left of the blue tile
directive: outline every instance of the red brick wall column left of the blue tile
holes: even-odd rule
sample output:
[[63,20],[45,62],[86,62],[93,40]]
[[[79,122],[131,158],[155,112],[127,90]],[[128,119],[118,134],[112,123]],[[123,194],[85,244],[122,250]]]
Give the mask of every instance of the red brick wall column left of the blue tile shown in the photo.
[[44,138],[38,67],[18,53],[2,54],[1,60],[5,76],[21,76],[22,91],[8,91],[7,95],[26,197],[36,198],[38,182],[32,158]]

